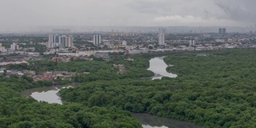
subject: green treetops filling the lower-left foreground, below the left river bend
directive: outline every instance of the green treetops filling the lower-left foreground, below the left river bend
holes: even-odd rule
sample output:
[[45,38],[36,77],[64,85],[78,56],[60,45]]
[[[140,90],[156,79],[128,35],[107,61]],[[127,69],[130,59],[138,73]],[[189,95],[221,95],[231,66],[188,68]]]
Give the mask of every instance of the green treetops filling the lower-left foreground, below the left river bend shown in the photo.
[[85,107],[77,103],[64,105],[37,102],[22,98],[20,92],[30,88],[24,78],[3,78],[0,82],[0,127],[30,128],[119,128],[142,127],[127,111],[111,107]]

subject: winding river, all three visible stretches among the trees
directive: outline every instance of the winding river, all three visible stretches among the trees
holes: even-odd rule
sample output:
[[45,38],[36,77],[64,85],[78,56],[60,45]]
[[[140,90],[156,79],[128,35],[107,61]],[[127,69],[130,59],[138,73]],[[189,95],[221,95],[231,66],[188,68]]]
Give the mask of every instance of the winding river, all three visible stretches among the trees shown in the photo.
[[[177,74],[170,74],[166,72],[166,63],[162,58],[152,58],[150,60],[150,68],[154,72],[152,79],[161,79],[162,77],[176,78]],[[34,89],[25,90],[22,92],[23,97],[32,97],[38,102],[49,102],[62,104],[62,99],[58,94],[58,91],[62,88],[74,87],[77,83],[65,85],[65,86],[46,86],[38,87]],[[150,114],[134,114],[134,117],[142,123],[143,128],[199,128],[190,122],[175,121],[169,118],[159,118]]]

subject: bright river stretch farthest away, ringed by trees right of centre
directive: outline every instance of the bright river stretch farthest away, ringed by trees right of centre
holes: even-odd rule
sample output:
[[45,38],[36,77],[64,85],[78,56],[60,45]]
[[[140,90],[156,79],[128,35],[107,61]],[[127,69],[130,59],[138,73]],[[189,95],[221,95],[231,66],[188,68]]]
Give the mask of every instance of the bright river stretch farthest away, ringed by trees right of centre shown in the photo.
[[162,77],[176,78],[177,74],[171,74],[166,71],[166,62],[163,61],[164,57],[152,58],[150,59],[150,68],[147,70],[151,70],[154,72],[154,77],[152,79],[161,79]]

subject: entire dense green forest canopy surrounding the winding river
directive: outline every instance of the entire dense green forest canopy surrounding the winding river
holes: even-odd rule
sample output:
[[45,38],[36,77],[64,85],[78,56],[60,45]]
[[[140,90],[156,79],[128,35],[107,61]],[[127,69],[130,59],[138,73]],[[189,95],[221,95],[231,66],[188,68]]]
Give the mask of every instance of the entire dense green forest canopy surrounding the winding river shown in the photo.
[[[75,88],[60,91],[63,105],[22,98],[20,92],[50,82],[0,79],[0,127],[142,127],[130,112],[194,122],[205,127],[256,126],[256,50],[206,50],[110,55],[110,61],[32,61],[17,70],[75,72]],[[165,56],[177,78],[142,79],[150,58]],[[133,58],[134,61],[127,61]],[[124,65],[118,74],[113,65]],[[90,74],[83,74],[89,72]]]

